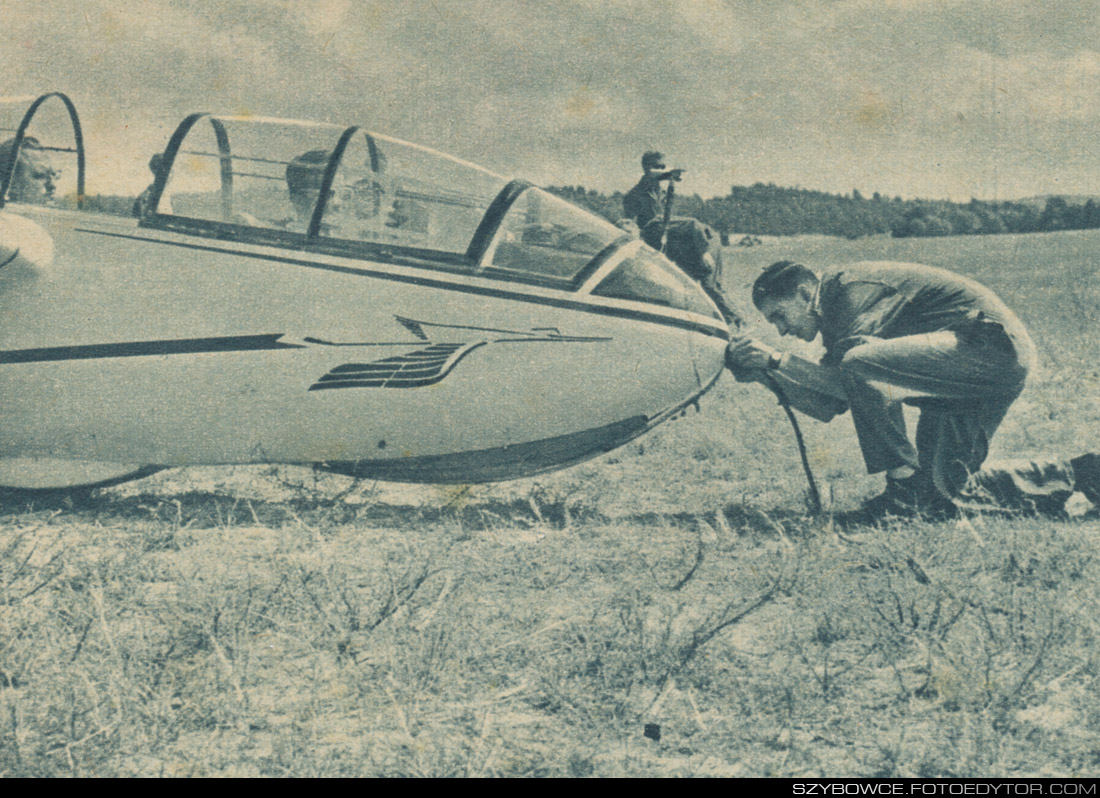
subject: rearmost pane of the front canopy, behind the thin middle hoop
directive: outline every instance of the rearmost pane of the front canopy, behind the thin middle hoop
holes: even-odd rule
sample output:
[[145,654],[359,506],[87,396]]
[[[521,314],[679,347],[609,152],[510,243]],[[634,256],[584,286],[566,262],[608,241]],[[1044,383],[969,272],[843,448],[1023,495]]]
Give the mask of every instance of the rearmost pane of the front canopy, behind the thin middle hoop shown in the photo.
[[[199,119],[172,163],[157,212],[305,233],[343,128]],[[150,179],[155,164],[151,162]]]

